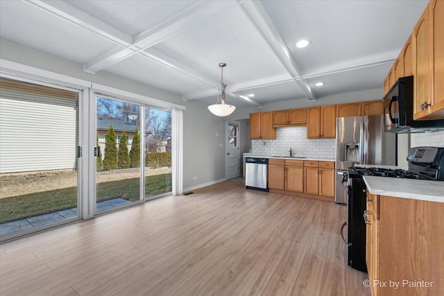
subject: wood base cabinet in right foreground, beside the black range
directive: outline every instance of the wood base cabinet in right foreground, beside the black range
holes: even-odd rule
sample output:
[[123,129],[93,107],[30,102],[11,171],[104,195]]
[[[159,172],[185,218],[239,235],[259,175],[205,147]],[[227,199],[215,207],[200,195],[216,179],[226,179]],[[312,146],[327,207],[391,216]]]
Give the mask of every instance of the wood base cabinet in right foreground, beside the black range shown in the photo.
[[[366,263],[372,295],[444,295],[444,203],[367,193]],[[398,288],[388,283],[399,281]],[[417,281],[415,287],[403,280]],[[418,281],[421,284],[418,284]],[[423,281],[433,281],[424,286]]]

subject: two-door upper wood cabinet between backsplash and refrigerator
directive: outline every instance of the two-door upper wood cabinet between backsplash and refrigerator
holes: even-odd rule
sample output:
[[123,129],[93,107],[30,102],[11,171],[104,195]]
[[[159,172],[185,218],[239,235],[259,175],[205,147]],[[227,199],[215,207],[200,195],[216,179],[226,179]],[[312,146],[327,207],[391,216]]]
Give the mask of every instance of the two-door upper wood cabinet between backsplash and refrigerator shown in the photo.
[[336,105],[307,109],[307,139],[336,137]]

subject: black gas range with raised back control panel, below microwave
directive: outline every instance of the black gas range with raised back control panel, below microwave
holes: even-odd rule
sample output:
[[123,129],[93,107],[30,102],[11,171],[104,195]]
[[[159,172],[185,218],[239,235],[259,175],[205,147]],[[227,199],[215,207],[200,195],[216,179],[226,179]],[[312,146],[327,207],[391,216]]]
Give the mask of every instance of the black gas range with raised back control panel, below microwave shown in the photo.
[[377,177],[409,178],[417,180],[444,181],[444,148],[416,147],[407,155],[409,169],[402,170],[390,167],[354,166],[344,173],[347,182],[347,240],[348,265],[351,268],[366,272],[366,224],[363,219],[366,211],[366,175]]

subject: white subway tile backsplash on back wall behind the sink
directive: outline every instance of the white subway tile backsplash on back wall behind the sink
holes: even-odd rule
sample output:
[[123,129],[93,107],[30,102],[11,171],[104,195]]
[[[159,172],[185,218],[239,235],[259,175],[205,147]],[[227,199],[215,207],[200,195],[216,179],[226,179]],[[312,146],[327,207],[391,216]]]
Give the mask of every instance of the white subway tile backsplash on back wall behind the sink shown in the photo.
[[276,129],[275,140],[251,140],[253,155],[293,156],[334,159],[335,139],[307,139],[306,126]]

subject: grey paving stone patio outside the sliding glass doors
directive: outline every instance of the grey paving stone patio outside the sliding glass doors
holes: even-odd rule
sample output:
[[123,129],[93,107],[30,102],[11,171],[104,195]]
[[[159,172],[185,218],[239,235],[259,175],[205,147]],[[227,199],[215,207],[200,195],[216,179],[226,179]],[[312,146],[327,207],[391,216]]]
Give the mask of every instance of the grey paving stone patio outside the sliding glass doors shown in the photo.
[[[112,200],[105,200],[103,202],[97,202],[97,211],[103,211],[105,209],[112,209],[115,207],[121,207],[123,205],[132,204],[129,200],[123,198],[114,198]],[[58,221],[66,220],[69,218],[77,217],[77,208],[64,209],[62,211],[55,211],[53,213],[33,216],[22,220],[15,220],[7,223],[0,224],[0,236],[6,236],[8,234],[14,234],[15,232],[21,232],[33,227],[42,226],[49,223],[55,223]]]

